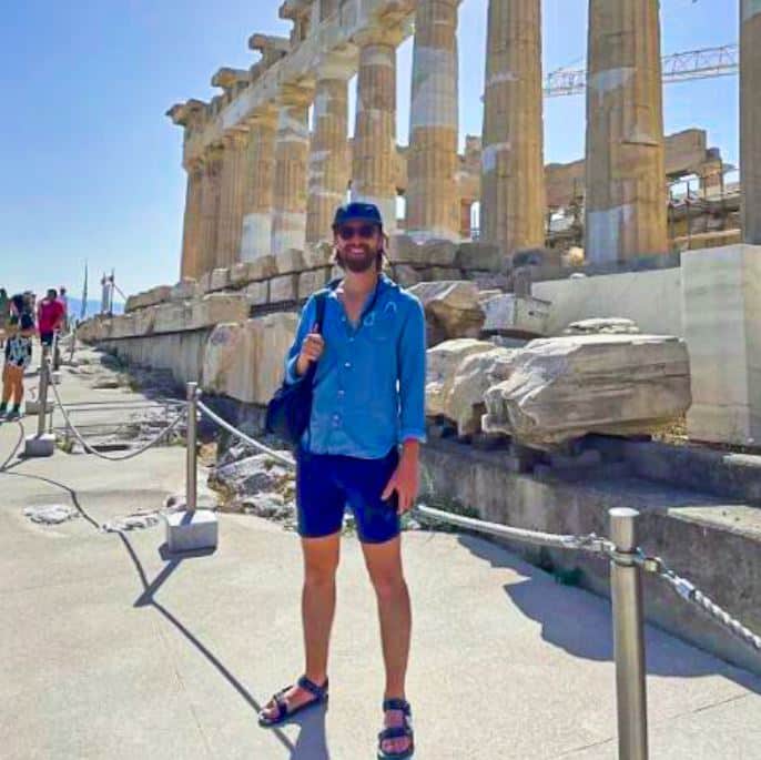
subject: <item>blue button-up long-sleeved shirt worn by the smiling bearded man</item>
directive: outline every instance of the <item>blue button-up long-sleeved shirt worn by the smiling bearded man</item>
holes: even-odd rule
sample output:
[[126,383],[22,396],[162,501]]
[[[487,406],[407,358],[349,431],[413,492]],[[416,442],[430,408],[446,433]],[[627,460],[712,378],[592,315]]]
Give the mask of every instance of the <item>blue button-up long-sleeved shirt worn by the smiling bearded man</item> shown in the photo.
[[[285,361],[287,383],[317,316],[314,295],[302,311]],[[425,316],[420,302],[380,275],[355,327],[334,288],[322,325],[312,417],[302,445],[314,454],[379,459],[407,439],[425,440]]]

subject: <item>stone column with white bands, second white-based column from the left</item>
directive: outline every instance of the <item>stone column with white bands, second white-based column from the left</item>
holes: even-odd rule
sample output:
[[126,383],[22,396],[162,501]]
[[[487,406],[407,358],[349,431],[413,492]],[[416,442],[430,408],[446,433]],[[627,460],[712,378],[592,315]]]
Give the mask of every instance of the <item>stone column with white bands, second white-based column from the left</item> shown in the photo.
[[278,98],[272,214],[273,254],[288,249],[304,250],[311,100],[312,93],[295,88],[284,89]]

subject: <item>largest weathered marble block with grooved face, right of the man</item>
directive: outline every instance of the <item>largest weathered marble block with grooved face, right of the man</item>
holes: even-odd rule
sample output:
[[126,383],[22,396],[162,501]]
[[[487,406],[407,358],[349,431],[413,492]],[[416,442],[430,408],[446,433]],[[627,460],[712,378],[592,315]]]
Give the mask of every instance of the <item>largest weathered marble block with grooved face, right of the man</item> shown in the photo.
[[687,346],[663,335],[531,341],[485,401],[484,430],[538,448],[587,433],[653,433],[690,406]]

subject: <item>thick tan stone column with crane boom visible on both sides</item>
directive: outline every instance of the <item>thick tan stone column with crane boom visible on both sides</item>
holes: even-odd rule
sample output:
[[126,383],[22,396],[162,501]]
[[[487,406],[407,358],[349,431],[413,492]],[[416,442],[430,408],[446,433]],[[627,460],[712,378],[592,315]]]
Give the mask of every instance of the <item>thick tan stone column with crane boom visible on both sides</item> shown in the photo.
[[586,259],[668,253],[659,0],[590,0]]

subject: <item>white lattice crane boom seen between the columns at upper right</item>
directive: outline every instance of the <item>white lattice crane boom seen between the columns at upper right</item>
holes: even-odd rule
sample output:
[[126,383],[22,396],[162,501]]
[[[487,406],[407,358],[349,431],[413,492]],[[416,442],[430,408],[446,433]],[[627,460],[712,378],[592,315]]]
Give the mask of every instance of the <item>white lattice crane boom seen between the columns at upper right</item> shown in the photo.
[[[740,47],[703,48],[664,55],[663,83],[686,82],[711,77],[732,77],[740,70]],[[581,94],[587,87],[585,70],[558,69],[545,79],[545,98]]]

